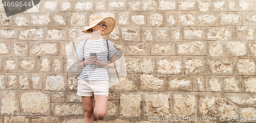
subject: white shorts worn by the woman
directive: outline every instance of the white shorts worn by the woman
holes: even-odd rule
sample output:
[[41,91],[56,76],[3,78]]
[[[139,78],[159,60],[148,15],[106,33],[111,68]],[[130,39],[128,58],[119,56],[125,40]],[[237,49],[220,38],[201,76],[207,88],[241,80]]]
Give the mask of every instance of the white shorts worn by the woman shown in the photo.
[[77,95],[92,97],[94,95],[105,95],[109,97],[109,80],[81,80],[77,81]]

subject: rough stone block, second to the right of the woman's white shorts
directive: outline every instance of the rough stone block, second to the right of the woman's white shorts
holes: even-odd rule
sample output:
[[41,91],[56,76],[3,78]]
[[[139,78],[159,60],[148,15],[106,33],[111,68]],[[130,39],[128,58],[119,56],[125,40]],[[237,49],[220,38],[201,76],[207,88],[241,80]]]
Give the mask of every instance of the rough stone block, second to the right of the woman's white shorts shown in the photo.
[[143,74],[140,75],[140,88],[146,91],[163,91],[165,90],[165,76]]

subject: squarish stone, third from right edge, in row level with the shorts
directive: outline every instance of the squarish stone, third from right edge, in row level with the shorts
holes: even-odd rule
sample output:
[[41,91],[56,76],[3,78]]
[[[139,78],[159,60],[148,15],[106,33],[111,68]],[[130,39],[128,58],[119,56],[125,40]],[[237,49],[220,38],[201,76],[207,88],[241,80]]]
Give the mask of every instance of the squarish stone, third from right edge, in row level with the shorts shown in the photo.
[[206,76],[205,78],[206,91],[222,92],[223,77],[221,76]]

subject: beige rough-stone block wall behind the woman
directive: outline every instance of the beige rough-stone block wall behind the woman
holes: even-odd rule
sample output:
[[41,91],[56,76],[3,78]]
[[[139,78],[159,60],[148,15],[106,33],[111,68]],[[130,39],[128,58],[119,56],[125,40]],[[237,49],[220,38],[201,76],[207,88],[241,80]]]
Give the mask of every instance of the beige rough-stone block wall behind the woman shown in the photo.
[[73,54],[95,15],[115,18],[103,38],[123,51],[127,70],[120,81],[110,70],[108,111],[97,122],[256,121],[255,10],[255,0],[41,0],[6,17],[1,3],[0,123],[83,122]]

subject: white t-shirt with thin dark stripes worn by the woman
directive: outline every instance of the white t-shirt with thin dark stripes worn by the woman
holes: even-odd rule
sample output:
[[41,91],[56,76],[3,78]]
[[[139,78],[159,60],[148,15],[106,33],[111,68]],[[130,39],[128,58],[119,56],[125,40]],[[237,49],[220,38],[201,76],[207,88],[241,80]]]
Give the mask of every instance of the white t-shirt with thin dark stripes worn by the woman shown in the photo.
[[[84,44],[85,42],[85,44]],[[117,49],[114,47],[113,43],[108,40],[109,45],[109,57],[108,57],[108,50],[106,46],[106,40],[100,39],[100,40],[84,40],[81,41],[76,52],[75,56],[79,60],[85,60],[88,57],[90,57],[90,52],[97,53],[97,57],[102,61],[102,63],[108,63],[108,59],[110,59],[111,56],[113,56]],[[83,57],[83,47],[84,47],[84,57]],[[80,76],[78,79],[82,80],[109,80],[109,72],[106,68],[100,68],[96,67],[95,65],[88,64],[86,67],[83,68]]]

